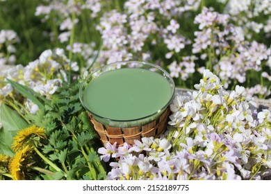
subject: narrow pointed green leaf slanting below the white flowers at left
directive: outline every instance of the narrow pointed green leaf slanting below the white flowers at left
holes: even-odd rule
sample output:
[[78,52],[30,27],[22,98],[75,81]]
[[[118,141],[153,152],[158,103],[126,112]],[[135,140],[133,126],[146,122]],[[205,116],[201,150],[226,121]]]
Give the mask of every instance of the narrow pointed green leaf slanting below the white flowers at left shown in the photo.
[[44,98],[43,96],[38,94],[37,92],[33,91],[33,89],[26,87],[24,85],[20,85],[19,83],[15,82],[13,80],[9,80],[9,79],[7,79],[7,80],[20,94],[22,94],[22,96],[31,100],[33,103],[38,105],[38,107],[40,107],[40,108],[44,107],[44,104],[41,103],[40,100],[38,100],[38,98],[42,99],[44,101],[44,103],[50,102],[49,100],[47,100],[46,98]]

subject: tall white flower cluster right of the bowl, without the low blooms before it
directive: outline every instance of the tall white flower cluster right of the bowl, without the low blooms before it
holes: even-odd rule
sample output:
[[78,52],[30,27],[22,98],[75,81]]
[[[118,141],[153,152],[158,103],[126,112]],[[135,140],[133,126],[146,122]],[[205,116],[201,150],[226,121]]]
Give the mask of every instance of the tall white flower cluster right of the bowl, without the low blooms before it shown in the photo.
[[170,116],[172,147],[199,160],[188,176],[261,179],[270,174],[270,110],[257,112],[244,87],[225,91],[208,70],[195,88],[192,99],[176,96]]

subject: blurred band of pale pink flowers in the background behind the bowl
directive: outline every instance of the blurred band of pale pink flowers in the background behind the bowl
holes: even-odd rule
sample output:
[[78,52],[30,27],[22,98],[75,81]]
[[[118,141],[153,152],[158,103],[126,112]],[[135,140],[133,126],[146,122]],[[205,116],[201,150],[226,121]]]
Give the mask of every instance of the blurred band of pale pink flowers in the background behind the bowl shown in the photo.
[[[224,4],[220,12],[215,10],[217,2]],[[243,85],[254,96],[268,98],[271,51],[261,39],[271,35],[270,1],[213,3],[214,8],[199,0],[129,0],[123,7],[98,0],[44,1],[35,15],[43,16],[44,22],[54,21],[52,41],[58,39],[74,53],[86,67],[83,71],[92,64],[142,60],[168,68],[176,85],[192,89],[199,80],[193,75],[210,69],[224,88]],[[110,6],[115,7],[108,10]],[[79,39],[74,37],[76,30]],[[90,32],[99,33],[99,41],[91,39]],[[257,92],[256,82],[267,91]]]

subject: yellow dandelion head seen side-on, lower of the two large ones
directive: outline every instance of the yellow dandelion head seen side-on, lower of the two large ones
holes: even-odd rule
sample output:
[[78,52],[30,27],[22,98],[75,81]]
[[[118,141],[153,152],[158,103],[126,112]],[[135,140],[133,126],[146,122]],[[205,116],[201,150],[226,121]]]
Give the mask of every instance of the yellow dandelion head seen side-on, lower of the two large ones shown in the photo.
[[10,170],[10,175],[13,177],[13,180],[22,180],[24,179],[24,169],[27,164],[27,159],[30,156],[32,147],[26,145],[24,148],[15,153],[13,159],[11,159],[8,168]]

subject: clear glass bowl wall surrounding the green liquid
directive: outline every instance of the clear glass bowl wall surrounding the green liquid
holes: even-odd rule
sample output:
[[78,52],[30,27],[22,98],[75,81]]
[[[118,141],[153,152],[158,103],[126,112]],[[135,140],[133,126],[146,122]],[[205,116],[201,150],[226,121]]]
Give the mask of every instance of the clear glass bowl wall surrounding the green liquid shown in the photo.
[[[101,116],[97,114],[97,112],[90,109],[90,106],[88,105],[87,100],[86,100],[87,96],[85,96],[85,91],[88,85],[90,85],[90,82],[95,80],[95,78],[98,78],[99,76],[101,76],[103,73],[106,73],[108,71],[113,71],[116,69],[124,69],[124,68],[125,69],[145,69],[145,70],[153,71],[163,76],[163,78],[165,78],[165,80],[167,80],[167,82],[170,85],[170,94],[169,94],[169,98],[167,102],[161,105],[161,107],[156,109],[154,112],[141,116],[140,118],[129,118],[129,119],[107,118],[106,116]],[[151,121],[154,121],[159,116],[161,116],[161,114],[165,112],[165,109],[167,109],[167,107],[172,102],[174,91],[175,91],[175,85],[170,74],[167,73],[167,71],[165,71],[163,68],[159,67],[158,65],[151,64],[148,62],[122,61],[122,62],[113,62],[113,63],[105,65],[104,67],[100,67],[99,69],[96,69],[95,71],[92,71],[90,75],[83,81],[79,89],[79,98],[81,100],[81,104],[83,105],[83,107],[91,114],[91,116],[93,116],[93,118],[95,118],[96,121],[99,121],[99,123],[102,123],[103,125],[106,125],[106,126],[112,126],[112,127],[135,127],[135,126],[145,125],[146,123],[150,123]],[[156,100],[156,99],[154,98],[153,100]]]

